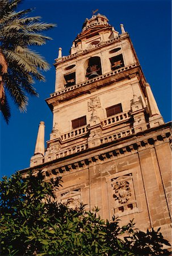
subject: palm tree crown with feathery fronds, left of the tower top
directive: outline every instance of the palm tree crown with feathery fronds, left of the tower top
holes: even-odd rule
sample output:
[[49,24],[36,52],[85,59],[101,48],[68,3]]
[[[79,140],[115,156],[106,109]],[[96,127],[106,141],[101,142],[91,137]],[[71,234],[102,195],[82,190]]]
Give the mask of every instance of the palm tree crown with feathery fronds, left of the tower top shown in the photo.
[[16,11],[23,0],[0,0],[0,100],[1,111],[8,123],[10,108],[5,92],[9,93],[20,111],[26,111],[27,95],[38,96],[32,86],[35,80],[45,81],[41,71],[49,64],[30,46],[42,46],[49,36],[41,34],[56,26],[40,22],[40,16],[26,16],[32,9]]

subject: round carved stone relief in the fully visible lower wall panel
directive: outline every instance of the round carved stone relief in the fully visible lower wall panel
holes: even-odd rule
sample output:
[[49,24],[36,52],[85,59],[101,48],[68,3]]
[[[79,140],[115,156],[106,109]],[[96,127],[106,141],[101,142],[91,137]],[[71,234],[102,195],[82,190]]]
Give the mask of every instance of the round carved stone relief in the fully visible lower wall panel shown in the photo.
[[114,185],[114,197],[119,203],[124,204],[127,203],[129,198],[131,197],[131,188],[129,187],[128,181],[116,181]]

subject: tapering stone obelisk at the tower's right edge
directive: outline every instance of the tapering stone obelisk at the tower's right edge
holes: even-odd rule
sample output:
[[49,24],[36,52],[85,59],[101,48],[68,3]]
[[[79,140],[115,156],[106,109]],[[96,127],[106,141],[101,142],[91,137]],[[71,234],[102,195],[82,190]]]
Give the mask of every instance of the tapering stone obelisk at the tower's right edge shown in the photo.
[[146,94],[147,94],[147,98],[148,98],[150,117],[152,117],[153,115],[161,115],[160,110],[158,109],[158,106],[157,106],[157,102],[154,99],[152,90],[151,90],[148,82],[146,82],[145,86],[146,86]]

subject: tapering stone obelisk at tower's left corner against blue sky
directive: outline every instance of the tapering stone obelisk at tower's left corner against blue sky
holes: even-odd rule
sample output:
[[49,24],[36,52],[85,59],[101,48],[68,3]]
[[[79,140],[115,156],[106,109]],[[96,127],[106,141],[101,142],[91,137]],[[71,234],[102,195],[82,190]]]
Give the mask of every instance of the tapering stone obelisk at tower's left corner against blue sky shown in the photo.
[[45,134],[45,125],[44,122],[41,121],[37,133],[37,139],[36,139],[36,146],[35,146],[35,152],[34,155],[36,154],[41,154],[44,156],[44,134]]

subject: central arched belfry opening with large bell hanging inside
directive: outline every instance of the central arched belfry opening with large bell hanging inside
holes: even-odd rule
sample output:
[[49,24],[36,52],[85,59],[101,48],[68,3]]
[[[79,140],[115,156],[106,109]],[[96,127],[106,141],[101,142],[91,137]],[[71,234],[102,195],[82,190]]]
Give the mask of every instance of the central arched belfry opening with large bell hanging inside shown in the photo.
[[102,67],[100,62],[100,57],[91,57],[88,60],[86,77],[88,79],[93,79],[94,77],[102,75]]

